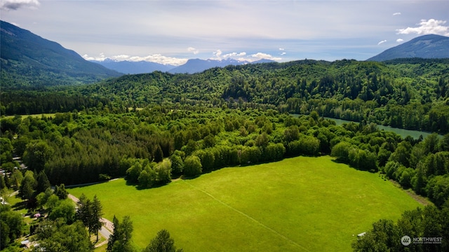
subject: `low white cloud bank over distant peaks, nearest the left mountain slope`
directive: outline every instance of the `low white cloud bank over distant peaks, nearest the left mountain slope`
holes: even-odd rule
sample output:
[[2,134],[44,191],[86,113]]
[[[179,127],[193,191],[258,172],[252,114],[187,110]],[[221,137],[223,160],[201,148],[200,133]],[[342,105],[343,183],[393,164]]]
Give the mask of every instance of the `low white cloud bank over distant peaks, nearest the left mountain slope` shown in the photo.
[[154,54],[154,55],[147,55],[147,56],[130,56],[130,55],[114,55],[110,57],[106,57],[104,53],[100,53],[98,57],[91,57],[89,55],[83,55],[83,58],[86,60],[98,60],[103,61],[107,58],[109,59],[115,59],[117,61],[123,61],[128,60],[131,62],[140,62],[140,61],[147,61],[147,62],[156,62],[159,64],[171,64],[175,66],[180,66],[182,64],[185,64],[187,62],[187,59],[182,58],[176,58],[176,57],[167,57],[160,54]]

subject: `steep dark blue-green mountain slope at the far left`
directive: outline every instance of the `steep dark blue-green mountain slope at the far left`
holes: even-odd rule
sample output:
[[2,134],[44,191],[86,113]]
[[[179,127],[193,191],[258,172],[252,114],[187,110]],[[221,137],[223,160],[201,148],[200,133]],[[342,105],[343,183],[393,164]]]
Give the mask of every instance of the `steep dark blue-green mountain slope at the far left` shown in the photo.
[[3,87],[94,83],[121,75],[8,22],[0,27]]

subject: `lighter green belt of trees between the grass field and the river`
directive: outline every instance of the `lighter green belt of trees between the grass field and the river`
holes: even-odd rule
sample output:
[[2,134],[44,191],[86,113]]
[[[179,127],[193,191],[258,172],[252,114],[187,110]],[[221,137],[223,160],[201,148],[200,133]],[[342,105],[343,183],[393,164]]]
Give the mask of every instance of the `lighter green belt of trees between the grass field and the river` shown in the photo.
[[[373,123],[337,126],[316,111],[149,106],[141,111],[56,113],[1,120],[2,168],[19,176],[13,155],[52,184],[126,176],[142,188],[221,167],[331,154],[357,169],[383,172],[441,206],[449,196],[449,135],[402,139]],[[19,172],[20,173],[20,172]]]

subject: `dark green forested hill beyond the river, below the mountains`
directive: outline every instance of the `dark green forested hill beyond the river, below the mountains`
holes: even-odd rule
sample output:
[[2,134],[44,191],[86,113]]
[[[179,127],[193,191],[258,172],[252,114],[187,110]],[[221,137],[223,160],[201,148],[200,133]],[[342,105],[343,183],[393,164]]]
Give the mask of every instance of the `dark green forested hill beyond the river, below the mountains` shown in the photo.
[[[449,132],[449,71],[444,60],[248,64],[192,75],[154,72],[121,76],[95,85],[60,87],[58,98],[50,96],[48,102],[39,98],[46,92],[33,91],[28,95],[32,99],[27,100],[27,95],[18,91],[4,90],[1,107],[7,114],[32,113],[25,105],[39,113],[106,105],[123,112],[126,108],[164,103],[269,108],[281,113],[318,111],[321,116],[344,120]],[[3,99],[8,96],[13,99]],[[63,96],[74,101],[86,97],[92,104],[83,100],[72,105],[54,102],[64,101]]]

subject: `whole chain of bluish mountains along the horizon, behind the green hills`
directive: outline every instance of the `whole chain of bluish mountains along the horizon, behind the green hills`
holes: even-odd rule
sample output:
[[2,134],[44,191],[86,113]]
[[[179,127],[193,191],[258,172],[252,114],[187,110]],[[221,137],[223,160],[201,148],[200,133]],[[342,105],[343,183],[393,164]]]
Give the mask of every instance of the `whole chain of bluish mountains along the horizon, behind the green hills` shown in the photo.
[[[107,59],[89,62],[73,50],[62,47],[31,31],[0,21],[0,67],[2,87],[77,85],[94,83],[123,73],[199,73],[213,67],[273,62],[261,59],[257,62],[236,59],[189,59],[181,66],[155,62],[129,62]],[[368,61],[385,61],[396,58],[449,58],[449,38],[424,35],[389,48]]]

